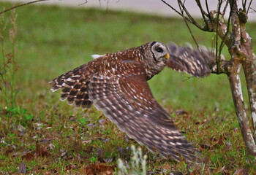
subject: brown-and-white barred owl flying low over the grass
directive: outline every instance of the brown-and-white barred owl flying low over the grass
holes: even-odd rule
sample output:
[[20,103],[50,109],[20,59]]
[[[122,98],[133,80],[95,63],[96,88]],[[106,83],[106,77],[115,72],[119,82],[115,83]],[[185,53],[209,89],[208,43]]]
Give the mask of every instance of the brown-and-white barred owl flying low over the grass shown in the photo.
[[[195,76],[209,71],[202,61],[188,64],[184,54],[178,59],[177,48],[173,44],[168,48],[161,42],[148,42],[122,52],[94,55],[93,61],[53,79],[51,90],[62,89],[61,101],[67,99],[77,107],[89,108],[94,104],[121,131],[151,152],[174,160],[180,160],[179,155],[195,160],[195,148],[157,103],[147,83],[166,65]],[[201,71],[192,68],[194,64]]]

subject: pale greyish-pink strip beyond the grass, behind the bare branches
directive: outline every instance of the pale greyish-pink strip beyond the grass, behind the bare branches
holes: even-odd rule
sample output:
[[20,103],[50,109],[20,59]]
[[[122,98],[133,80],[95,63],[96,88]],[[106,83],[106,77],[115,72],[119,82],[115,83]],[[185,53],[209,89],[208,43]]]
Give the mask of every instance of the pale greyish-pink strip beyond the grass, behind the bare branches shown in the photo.
[[[12,2],[29,2],[31,0],[1,0],[1,1],[12,1]],[[167,4],[171,4],[174,8],[179,9],[176,1],[165,0]],[[206,5],[206,1],[201,1],[202,5]],[[115,11],[126,11],[126,12],[139,12],[146,13],[150,15],[161,15],[165,17],[180,17],[176,12],[170,9],[161,0],[50,0],[41,1],[37,3],[47,4],[47,5],[59,5],[64,7],[75,7],[75,8],[97,8],[97,9],[110,9]],[[186,1],[185,2],[189,13],[195,18],[201,18],[200,10],[197,7],[196,1]],[[210,9],[217,9],[218,0],[208,1],[208,7]],[[238,0],[238,7],[241,7],[242,0]],[[252,9],[250,9],[249,20],[256,20],[256,1],[252,1]],[[227,7],[227,13],[230,8]]]

